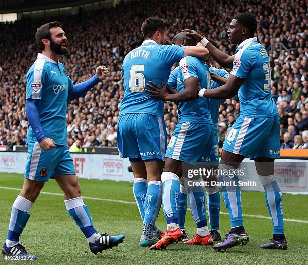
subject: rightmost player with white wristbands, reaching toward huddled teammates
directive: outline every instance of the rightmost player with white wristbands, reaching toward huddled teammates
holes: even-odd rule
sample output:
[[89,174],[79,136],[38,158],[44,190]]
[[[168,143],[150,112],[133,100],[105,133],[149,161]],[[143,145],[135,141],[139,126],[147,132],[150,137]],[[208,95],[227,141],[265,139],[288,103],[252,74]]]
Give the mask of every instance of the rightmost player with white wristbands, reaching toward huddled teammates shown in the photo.
[[265,200],[272,218],[274,233],[264,249],[287,249],[284,235],[282,193],[274,175],[274,160],[279,157],[279,116],[271,97],[269,57],[262,44],[254,37],[257,21],[250,13],[234,17],[227,31],[232,44],[238,44],[236,54],[229,56],[217,49],[193,30],[184,30],[209,49],[211,56],[225,68],[231,68],[228,82],[216,89],[201,89],[199,96],[224,99],[238,91],[241,114],[229,130],[223,144],[219,165],[222,181],[235,183],[222,186],[225,205],[229,211],[231,231],[214,249],[225,251],[245,245],[249,238],[243,226],[241,189],[238,177],[232,172],[249,155],[255,160],[259,179],[265,190]]

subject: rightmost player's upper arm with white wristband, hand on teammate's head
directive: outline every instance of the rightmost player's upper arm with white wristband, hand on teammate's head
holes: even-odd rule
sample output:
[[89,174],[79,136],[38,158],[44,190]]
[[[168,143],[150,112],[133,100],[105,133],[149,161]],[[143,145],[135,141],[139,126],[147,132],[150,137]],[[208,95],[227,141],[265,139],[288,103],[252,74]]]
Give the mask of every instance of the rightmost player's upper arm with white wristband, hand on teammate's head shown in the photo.
[[196,41],[201,42],[201,44],[209,50],[210,55],[215,59],[215,61],[219,63],[222,67],[232,68],[234,55],[230,56],[224,53],[223,51],[220,51],[213,44],[211,44],[205,37],[203,37],[200,33],[194,30],[185,29],[182,30],[182,32],[183,31],[186,32],[187,36],[191,36]]

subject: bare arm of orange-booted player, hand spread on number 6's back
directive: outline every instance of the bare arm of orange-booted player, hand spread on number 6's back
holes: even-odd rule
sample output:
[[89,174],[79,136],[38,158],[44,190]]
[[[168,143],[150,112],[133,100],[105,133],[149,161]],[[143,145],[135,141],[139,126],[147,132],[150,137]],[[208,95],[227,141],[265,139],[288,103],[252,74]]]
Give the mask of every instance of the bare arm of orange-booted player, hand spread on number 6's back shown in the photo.
[[162,82],[162,88],[160,88],[156,83],[150,81],[150,84],[146,84],[152,90],[145,89],[148,92],[148,96],[155,97],[164,101],[172,102],[185,102],[198,98],[198,86],[199,81],[196,77],[187,78],[184,81],[185,89],[180,93],[169,94],[167,88]]

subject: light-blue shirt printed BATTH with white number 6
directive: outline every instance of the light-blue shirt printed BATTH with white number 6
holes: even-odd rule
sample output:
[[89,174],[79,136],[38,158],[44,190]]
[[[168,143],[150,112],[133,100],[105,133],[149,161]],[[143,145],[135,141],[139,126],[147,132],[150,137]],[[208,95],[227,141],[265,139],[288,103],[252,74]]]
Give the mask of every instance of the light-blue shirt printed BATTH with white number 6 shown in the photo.
[[161,86],[167,84],[172,65],[184,57],[184,46],[159,45],[146,40],[130,51],[124,58],[124,97],[120,105],[120,115],[125,113],[148,113],[163,116],[164,101],[147,95],[145,84],[149,81]]

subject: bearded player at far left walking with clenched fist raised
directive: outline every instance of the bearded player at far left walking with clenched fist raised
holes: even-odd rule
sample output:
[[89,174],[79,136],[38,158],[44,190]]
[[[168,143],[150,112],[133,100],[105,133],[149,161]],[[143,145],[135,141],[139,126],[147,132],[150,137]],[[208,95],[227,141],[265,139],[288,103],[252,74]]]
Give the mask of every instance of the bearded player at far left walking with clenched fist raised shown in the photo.
[[87,238],[91,252],[97,254],[123,242],[125,236],[101,235],[93,226],[66,145],[66,109],[67,100],[84,95],[104,80],[108,69],[99,66],[96,75],[74,85],[65,66],[59,62],[60,55],[68,53],[67,38],[61,24],[54,21],[42,25],[37,29],[35,38],[42,53],[38,54],[26,76],[29,156],[23,189],[13,203],[8,237],[2,253],[36,259],[19,243],[19,237],[45,182],[54,178],[64,192],[68,214]]

